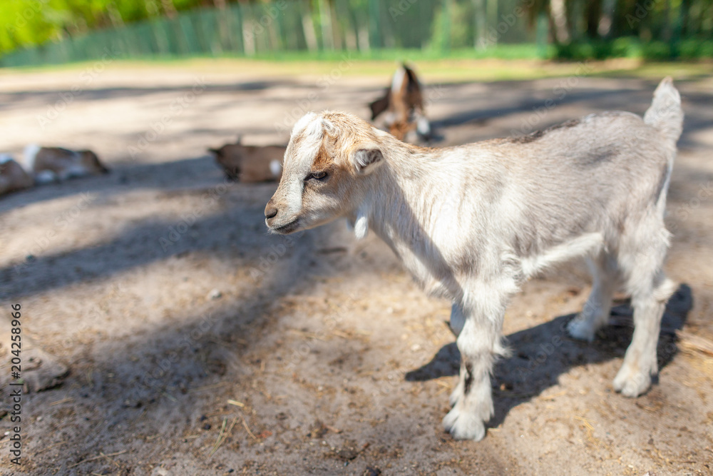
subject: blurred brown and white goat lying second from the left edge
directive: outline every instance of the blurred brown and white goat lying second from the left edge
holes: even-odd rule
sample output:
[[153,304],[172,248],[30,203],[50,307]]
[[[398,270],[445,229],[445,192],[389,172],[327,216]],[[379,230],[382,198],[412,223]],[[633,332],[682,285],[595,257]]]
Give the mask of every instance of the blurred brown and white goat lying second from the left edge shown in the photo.
[[61,147],[32,144],[25,148],[24,158],[25,168],[34,173],[38,183],[109,173],[96,153],[86,149],[70,151]]

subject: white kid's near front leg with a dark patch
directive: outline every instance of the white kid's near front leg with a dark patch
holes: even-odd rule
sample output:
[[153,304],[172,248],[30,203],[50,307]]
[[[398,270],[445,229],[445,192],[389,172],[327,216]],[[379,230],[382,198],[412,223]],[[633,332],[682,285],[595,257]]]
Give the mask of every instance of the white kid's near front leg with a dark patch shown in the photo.
[[461,375],[451,394],[453,408],[443,418],[443,427],[458,440],[478,441],[486,435],[485,423],[494,412],[490,376],[496,355],[505,353],[501,345],[503,313],[492,317],[466,308],[463,315],[465,323],[456,339],[461,352]]

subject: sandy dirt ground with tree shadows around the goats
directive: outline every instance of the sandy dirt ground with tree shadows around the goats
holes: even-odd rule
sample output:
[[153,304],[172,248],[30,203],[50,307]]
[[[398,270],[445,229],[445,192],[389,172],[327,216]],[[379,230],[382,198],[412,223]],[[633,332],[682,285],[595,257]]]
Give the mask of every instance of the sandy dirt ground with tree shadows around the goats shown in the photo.
[[[358,64],[351,66],[358,69]],[[335,66],[334,71],[338,71]],[[238,133],[286,143],[310,109],[368,117],[389,82],[153,66],[0,76],[0,149],[88,147],[108,176],[0,198],[0,310],[71,369],[22,400],[22,465],[6,475],[711,475],[713,76],[677,81],[687,115],[670,187],[660,380],[612,390],[631,337],[622,301],[592,344],[563,325],[583,266],[530,280],[508,308],[515,350],[493,377],[478,443],[443,432],[458,352],[449,303],[378,238],[340,221],[268,236],[275,184],[226,183],[206,148]],[[643,113],[655,81],[429,83],[436,146],[594,111]],[[6,321],[2,321],[6,325]],[[7,368],[2,371],[7,373]],[[9,387],[3,375],[3,405]]]

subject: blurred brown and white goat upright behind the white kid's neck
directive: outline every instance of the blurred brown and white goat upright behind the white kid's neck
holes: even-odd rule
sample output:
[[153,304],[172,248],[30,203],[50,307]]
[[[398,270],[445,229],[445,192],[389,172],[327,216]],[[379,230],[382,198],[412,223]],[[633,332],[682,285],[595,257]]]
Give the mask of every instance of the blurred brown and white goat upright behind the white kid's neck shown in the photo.
[[428,140],[431,136],[431,124],[424,111],[424,96],[421,82],[416,72],[401,65],[394,73],[391,86],[386,88],[384,96],[369,103],[371,121],[386,112],[386,127],[389,133],[400,141],[413,142],[411,132],[419,138]]

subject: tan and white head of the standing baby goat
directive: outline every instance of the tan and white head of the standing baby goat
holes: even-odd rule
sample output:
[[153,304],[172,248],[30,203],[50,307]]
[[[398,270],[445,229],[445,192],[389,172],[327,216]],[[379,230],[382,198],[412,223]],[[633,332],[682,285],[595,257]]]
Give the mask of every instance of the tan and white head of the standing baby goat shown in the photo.
[[384,163],[386,133],[346,113],[308,113],[292,129],[282,178],[265,207],[273,233],[293,233],[352,215]]

